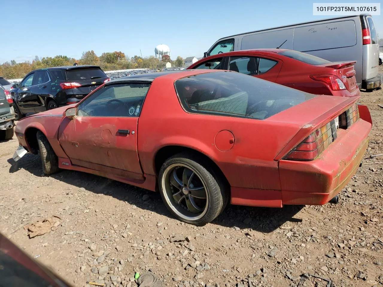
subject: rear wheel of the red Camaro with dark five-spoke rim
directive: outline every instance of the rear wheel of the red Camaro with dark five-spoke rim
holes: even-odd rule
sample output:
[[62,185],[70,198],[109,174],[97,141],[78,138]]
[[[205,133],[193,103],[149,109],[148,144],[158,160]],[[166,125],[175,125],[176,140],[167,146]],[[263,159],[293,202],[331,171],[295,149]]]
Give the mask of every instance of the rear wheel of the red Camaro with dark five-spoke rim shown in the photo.
[[159,173],[159,189],[166,207],[183,222],[204,225],[228,202],[224,181],[202,158],[180,153],[168,158]]

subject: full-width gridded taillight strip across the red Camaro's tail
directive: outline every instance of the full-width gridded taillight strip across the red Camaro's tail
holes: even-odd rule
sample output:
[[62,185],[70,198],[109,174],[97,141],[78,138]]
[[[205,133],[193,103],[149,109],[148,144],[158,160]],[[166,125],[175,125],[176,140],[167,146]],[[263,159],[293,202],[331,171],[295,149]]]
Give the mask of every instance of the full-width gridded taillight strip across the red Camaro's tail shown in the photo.
[[334,140],[337,139],[337,127],[340,129],[349,128],[359,119],[358,104],[352,105],[336,119],[328,122],[326,126],[313,132],[297,145],[290,153],[284,157],[284,160],[314,160],[320,155]]

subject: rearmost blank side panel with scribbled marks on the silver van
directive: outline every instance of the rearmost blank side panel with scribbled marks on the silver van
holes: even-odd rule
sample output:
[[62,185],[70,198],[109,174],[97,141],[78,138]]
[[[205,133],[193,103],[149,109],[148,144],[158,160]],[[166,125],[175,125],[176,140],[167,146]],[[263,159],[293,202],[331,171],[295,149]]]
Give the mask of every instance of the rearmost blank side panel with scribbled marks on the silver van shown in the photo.
[[308,52],[356,44],[355,22],[346,20],[295,28],[292,50]]

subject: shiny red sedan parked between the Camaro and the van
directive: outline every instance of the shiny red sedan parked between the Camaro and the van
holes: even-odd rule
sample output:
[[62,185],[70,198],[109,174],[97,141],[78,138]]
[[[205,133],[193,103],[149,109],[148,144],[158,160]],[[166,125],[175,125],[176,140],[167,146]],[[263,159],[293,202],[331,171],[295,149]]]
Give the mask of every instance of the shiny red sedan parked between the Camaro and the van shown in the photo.
[[[219,53],[187,69],[231,70],[316,95],[360,96],[354,64],[330,62],[287,49],[254,49]],[[362,119],[372,123],[367,106],[359,105]]]

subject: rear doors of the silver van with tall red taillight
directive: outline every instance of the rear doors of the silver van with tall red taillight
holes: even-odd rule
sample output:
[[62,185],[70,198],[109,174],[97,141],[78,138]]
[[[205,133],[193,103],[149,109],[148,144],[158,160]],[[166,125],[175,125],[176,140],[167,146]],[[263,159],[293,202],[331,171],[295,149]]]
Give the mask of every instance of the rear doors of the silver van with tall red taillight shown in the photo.
[[375,24],[369,15],[360,15],[362,24],[363,68],[362,80],[375,78],[379,69],[379,44]]

